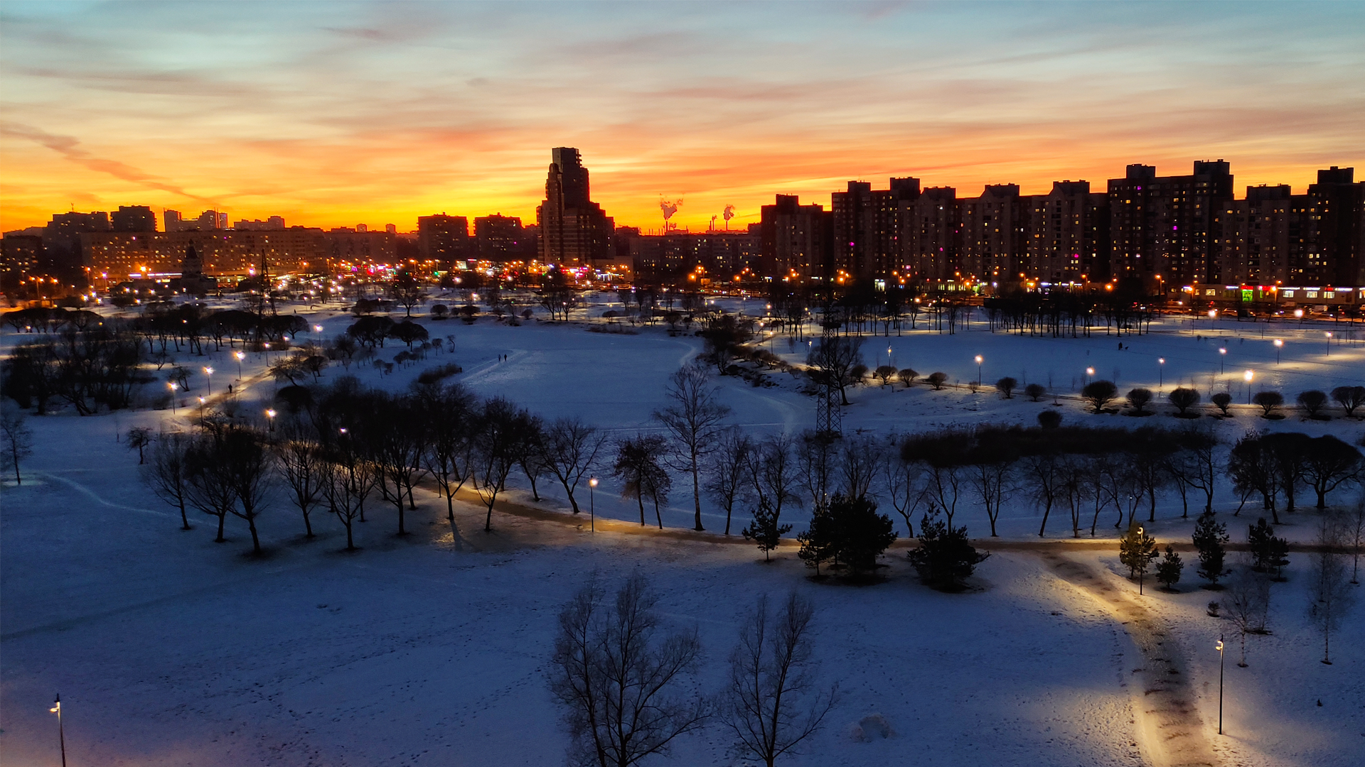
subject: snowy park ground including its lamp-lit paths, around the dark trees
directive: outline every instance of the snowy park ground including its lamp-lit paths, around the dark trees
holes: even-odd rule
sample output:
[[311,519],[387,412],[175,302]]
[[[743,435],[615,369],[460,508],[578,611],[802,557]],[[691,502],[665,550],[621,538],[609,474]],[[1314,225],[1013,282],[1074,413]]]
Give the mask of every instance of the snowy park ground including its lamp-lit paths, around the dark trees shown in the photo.
[[[898,539],[875,577],[815,579],[797,554],[796,536],[809,530],[814,508],[801,482],[782,510],[792,528],[766,557],[740,535],[751,504],[732,509],[725,535],[725,509],[703,493],[698,515],[685,469],[670,468],[658,517],[613,476],[618,441],[666,434],[655,414],[670,404],[670,377],[707,345],[695,333],[700,323],[684,330],[607,322],[602,313],[613,304],[599,300],[573,322],[465,323],[418,310],[425,349],[390,337],[373,353],[345,364],[332,359],[300,379],[322,392],[349,375],[356,386],[403,393],[425,373],[453,366],[459,373],[448,367],[440,381],[479,401],[502,397],[545,423],[580,419],[607,448],[588,472],[599,484],[575,493],[579,513],[560,482],[545,476],[532,490],[513,467],[491,509],[465,487],[448,513],[431,478],[418,480],[404,535],[396,535],[393,505],[375,495],[366,521],[354,525],[356,550],[325,509],[314,510],[315,535],[306,536],[283,484],[263,495],[254,520],[259,554],[235,516],[222,543],[214,542],[217,520],[192,509],[192,530],[182,530],[179,509],[143,482],[128,434],[188,433],[197,419],[224,411],[266,435],[287,430],[296,403],[277,390],[292,382],[270,366],[289,352],[240,341],[205,341],[202,355],[175,344],[167,370],[192,373],[175,381],[169,399],[161,396],[161,370],[156,392],[149,384],[135,400],[143,407],[82,416],[55,399],[49,414],[30,415],[22,483],[10,476],[0,498],[4,762],[57,763],[49,707],[60,692],[71,764],[560,763],[569,736],[547,681],[557,616],[592,573],[610,590],[644,576],[662,624],[696,631],[702,652],[677,682],[688,695],[723,686],[760,594],[781,599],[796,591],[809,600],[811,673],[824,688],[837,682],[838,693],[823,727],[778,764],[1365,762],[1365,605],[1357,598],[1354,609],[1343,607],[1331,665],[1320,662],[1324,637],[1310,616],[1321,523],[1354,508],[1358,482],[1332,489],[1324,510],[1310,489],[1299,491],[1294,513],[1278,506],[1274,530],[1290,546],[1289,564],[1269,585],[1268,633],[1245,636],[1245,667],[1237,663],[1244,635],[1226,607],[1211,614],[1209,602],[1226,603],[1226,592],[1201,588],[1194,575],[1190,542],[1204,491],[1182,501],[1171,483],[1151,494],[1151,508],[1115,498],[1096,512],[1097,524],[1087,512],[1078,536],[1061,506],[1039,535],[1044,510],[1022,480],[1001,493],[994,510],[964,484],[953,521],[990,557],[962,588],[935,590],[906,558],[915,546],[908,524],[923,532],[924,506],[898,515],[878,468],[867,494]],[[766,315],[762,299],[717,302],[732,314]],[[356,322],[341,310],[298,313],[308,329],[292,338],[295,348],[337,338]],[[756,326],[749,359],[736,358],[733,368],[711,364],[706,382],[729,408],[722,426],[760,444],[784,435],[799,442],[816,426],[804,368],[820,338],[777,328]],[[11,355],[41,336],[7,332],[0,351]],[[1223,468],[1233,445],[1253,430],[1347,445],[1365,435],[1365,420],[1335,403],[1317,418],[1295,405],[1299,392],[1365,385],[1360,326],[1183,317],[1159,318],[1141,334],[1095,328],[1088,337],[1051,337],[990,332],[980,319],[954,333],[921,322],[865,333],[859,351],[871,370],[917,374],[910,382],[860,377],[846,386],[839,444],[875,453],[878,467],[898,460],[906,437],[1036,430],[1041,412],[1059,414],[1062,427],[1117,430],[1104,431],[1111,437],[1204,430],[1218,445],[1211,505],[1234,545],[1233,570],[1248,569],[1235,545],[1264,513],[1263,498],[1244,504]],[[940,386],[924,382],[939,371]],[[1005,377],[1016,381],[1011,397],[995,388]],[[1114,382],[1118,396],[1095,414],[1081,390],[1099,379]],[[1025,396],[1029,384],[1046,393]],[[1151,415],[1126,407],[1134,388],[1153,393]],[[1175,388],[1200,393],[1197,418],[1178,418],[1167,400]],[[1231,400],[1226,412],[1209,404],[1220,392]],[[1269,414],[1278,418],[1252,404],[1259,392],[1282,393],[1284,404]],[[1159,588],[1151,572],[1141,587],[1127,577],[1118,545],[1126,524],[1115,525],[1115,515],[1127,521],[1125,509],[1127,520],[1137,512],[1159,547],[1173,543],[1185,557],[1174,590]],[[1350,557],[1343,560],[1349,568]],[[732,733],[713,722],[678,737],[670,757],[646,763],[753,763],[733,745]]]

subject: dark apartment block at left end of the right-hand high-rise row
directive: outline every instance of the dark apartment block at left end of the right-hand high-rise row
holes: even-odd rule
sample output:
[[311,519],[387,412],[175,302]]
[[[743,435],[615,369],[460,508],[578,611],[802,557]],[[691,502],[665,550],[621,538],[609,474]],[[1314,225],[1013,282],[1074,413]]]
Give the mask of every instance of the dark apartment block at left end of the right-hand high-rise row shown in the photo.
[[760,209],[763,273],[792,283],[835,280],[833,235],[833,214],[823,206],[777,195],[774,205]]

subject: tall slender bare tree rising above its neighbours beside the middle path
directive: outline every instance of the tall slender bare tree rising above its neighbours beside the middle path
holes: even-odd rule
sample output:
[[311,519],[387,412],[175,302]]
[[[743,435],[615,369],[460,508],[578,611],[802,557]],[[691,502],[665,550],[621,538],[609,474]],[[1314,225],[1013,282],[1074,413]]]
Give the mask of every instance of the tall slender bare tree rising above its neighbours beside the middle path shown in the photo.
[[730,415],[730,408],[719,401],[719,389],[711,386],[711,371],[700,362],[673,373],[666,394],[673,404],[655,411],[654,418],[673,435],[674,454],[680,459],[674,468],[692,475],[695,530],[706,530],[702,527],[700,463],[715,449],[721,422]]

